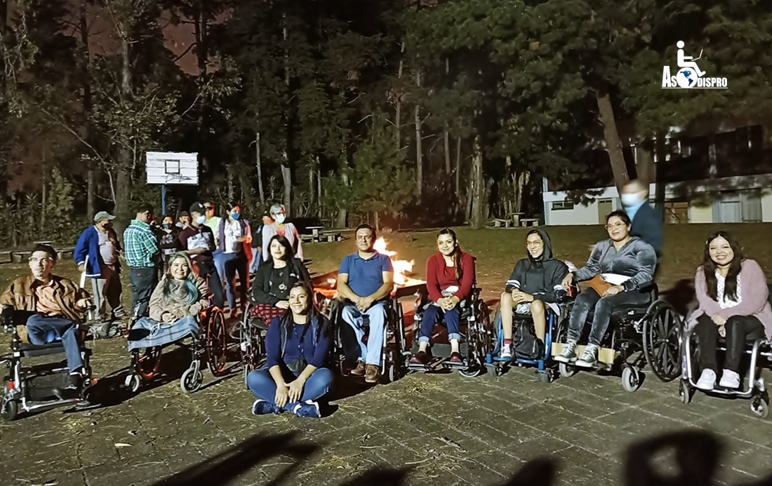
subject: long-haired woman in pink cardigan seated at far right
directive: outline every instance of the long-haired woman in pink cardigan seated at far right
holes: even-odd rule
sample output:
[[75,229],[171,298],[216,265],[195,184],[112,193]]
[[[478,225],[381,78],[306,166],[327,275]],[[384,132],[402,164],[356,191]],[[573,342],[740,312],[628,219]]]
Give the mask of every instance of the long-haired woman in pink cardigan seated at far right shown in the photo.
[[699,338],[699,367],[696,386],[713,390],[718,365],[716,345],[726,338],[726,356],[719,386],[740,386],[740,358],[746,339],[772,337],[772,309],[768,302],[767,279],[759,264],[743,258],[740,245],[725,231],[705,242],[703,265],[694,275],[699,307],[689,316],[689,328]]

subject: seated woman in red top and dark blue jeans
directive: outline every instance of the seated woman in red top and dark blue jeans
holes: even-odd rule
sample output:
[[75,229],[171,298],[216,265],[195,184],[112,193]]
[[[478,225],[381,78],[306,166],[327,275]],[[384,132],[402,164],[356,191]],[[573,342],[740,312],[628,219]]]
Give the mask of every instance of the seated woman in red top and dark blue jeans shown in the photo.
[[425,365],[432,360],[429,339],[435,324],[445,316],[451,346],[448,361],[452,365],[460,365],[463,363],[459,353],[460,302],[472,293],[475,261],[472,255],[461,250],[455,231],[450,228],[439,231],[437,249],[439,252],[426,262],[426,289],[431,302],[426,307],[421,323],[418,353],[410,359],[410,363]]

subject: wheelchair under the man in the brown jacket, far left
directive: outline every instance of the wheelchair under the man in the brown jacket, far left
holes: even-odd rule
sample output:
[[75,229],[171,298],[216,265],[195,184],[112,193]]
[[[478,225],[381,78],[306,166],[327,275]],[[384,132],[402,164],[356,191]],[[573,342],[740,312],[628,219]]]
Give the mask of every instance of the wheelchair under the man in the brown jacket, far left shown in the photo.
[[88,398],[92,380],[90,365],[91,349],[86,347],[86,329],[90,323],[80,326],[80,356],[83,359],[83,382],[79,397],[62,399],[56,396],[55,390],[69,385],[69,369],[66,360],[57,359],[47,363],[30,363],[32,358],[39,356],[63,355],[64,346],[56,336],[49,334],[51,342],[35,345],[24,343],[17,326],[24,326],[32,312],[14,311],[13,323],[5,326],[5,332],[11,334],[11,354],[3,359],[8,366],[8,375],[3,380],[4,393],[0,403],[0,417],[11,421],[19,417],[19,412],[44,410],[70,403],[78,406],[90,405]]

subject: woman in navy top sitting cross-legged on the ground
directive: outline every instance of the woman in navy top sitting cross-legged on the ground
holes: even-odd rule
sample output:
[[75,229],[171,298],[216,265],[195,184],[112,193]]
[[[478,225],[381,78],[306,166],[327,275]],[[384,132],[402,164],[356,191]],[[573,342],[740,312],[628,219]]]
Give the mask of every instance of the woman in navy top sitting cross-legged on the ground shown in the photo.
[[319,400],[330,390],[327,366],[330,322],[313,306],[313,291],[304,282],[289,291],[289,310],[271,323],[266,334],[266,366],[247,376],[257,400],[252,413],[289,411],[298,417],[320,417]]

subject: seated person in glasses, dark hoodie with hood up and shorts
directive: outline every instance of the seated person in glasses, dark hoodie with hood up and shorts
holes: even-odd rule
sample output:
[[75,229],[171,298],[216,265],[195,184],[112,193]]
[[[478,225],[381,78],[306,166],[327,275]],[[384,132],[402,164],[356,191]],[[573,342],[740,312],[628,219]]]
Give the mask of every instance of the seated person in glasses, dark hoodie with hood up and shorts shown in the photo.
[[512,357],[513,315],[531,316],[538,339],[544,340],[547,327],[545,304],[564,302],[567,292],[563,278],[568,273],[564,262],[552,258],[552,242],[547,231],[532,229],[526,236],[528,258],[518,261],[506,289],[501,294],[501,326],[504,331],[502,358]]

